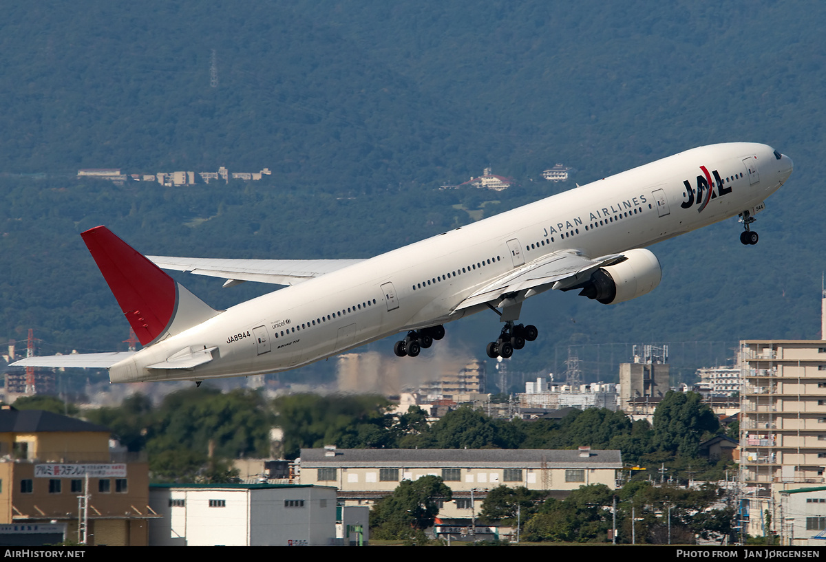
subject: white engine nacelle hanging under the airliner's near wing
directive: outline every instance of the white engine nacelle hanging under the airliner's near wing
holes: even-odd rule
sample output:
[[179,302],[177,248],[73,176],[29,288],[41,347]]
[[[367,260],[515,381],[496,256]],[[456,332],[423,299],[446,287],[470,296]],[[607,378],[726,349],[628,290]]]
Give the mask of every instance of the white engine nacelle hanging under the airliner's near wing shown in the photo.
[[579,294],[603,305],[615,305],[656,289],[662,279],[657,256],[644,248],[623,255],[628,258],[624,262],[596,270]]

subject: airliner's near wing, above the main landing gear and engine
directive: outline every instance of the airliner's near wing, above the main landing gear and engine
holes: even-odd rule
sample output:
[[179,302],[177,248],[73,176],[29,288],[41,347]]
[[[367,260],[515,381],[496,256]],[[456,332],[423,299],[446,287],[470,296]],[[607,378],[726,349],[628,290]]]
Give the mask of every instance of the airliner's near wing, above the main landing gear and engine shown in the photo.
[[[568,289],[587,281],[600,267],[624,262],[625,259],[621,253],[591,259],[574,250],[561,250],[506,273],[496,281],[476,290],[453,310],[468,309],[485,303],[498,306],[502,300],[520,291],[524,291],[524,300],[543,290]],[[531,290],[532,292],[529,292]]]

